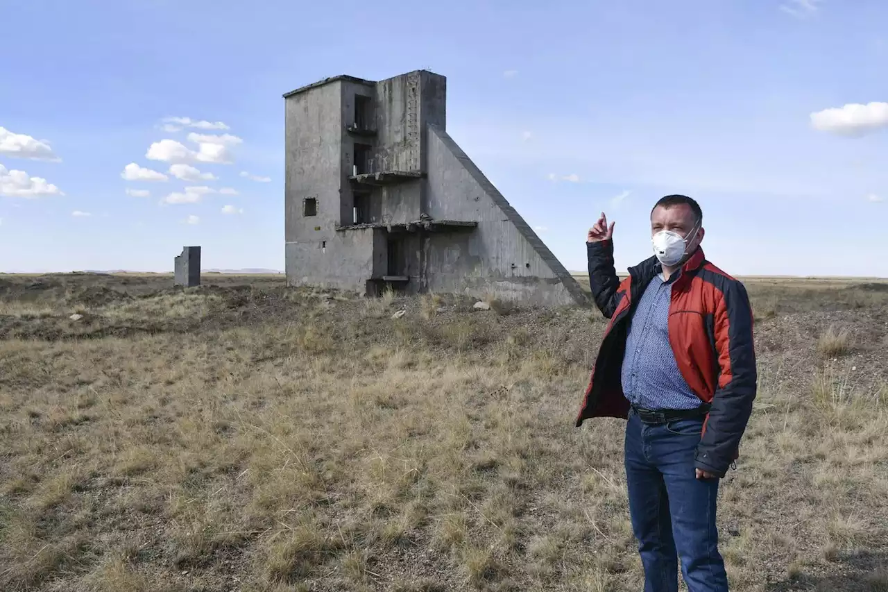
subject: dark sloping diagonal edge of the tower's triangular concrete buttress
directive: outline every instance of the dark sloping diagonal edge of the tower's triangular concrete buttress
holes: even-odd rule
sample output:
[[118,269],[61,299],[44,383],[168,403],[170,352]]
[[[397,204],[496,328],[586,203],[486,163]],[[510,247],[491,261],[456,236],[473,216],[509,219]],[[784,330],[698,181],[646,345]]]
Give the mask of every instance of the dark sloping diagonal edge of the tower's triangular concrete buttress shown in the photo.
[[469,158],[468,155],[465,154],[463,148],[459,148],[459,145],[456,143],[456,140],[451,138],[448,132],[441,130],[435,125],[429,125],[429,130],[434,133],[438,138],[444,143],[444,145],[453,153],[453,156],[456,156],[456,159],[463,164],[465,170],[472,175],[472,178],[476,180],[479,185],[484,188],[485,192],[493,199],[494,203],[499,206],[499,209],[503,211],[506,218],[508,218],[512,224],[515,225],[515,228],[518,229],[521,236],[524,236],[527,239],[527,242],[534,248],[537,254],[546,262],[546,264],[551,268],[551,270],[555,273],[555,276],[558,277],[561,284],[567,288],[567,292],[574,298],[576,304],[579,305],[587,305],[589,304],[589,296],[586,292],[583,291],[583,288],[580,287],[579,282],[576,281],[574,276],[570,275],[570,272],[567,271],[561,261],[549,250],[549,247],[546,246],[545,243],[540,239],[539,236],[534,232],[533,228],[530,228],[530,225],[527,224],[526,221],[521,217],[521,214],[518,213],[518,210],[513,208],[509,201],[503,197],[503,194],[499,192],[499,190],[494,187],[494,184],[491,183],[488,178],[481,172],[480,168],[476,164],[472,162],[472,159]]

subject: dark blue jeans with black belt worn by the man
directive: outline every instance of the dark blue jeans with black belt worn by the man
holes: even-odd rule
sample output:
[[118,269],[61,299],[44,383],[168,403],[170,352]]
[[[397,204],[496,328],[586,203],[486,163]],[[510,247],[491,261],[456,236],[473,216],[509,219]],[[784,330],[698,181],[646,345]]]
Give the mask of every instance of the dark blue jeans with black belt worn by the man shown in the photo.
[[678,557],[689,592],[726,592],[718,553],[718,479],[697,479],[694,451],[703,420],[646,424],[631,412],[625,462],[632,531],[645,592],[677,592]]

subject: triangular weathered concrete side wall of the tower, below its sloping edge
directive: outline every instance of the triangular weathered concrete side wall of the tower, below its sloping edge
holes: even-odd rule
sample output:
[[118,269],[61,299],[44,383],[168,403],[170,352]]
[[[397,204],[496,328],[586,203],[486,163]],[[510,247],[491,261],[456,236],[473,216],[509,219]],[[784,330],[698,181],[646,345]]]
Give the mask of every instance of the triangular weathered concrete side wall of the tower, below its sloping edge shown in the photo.
[[428,289],[493,293],[543,305],[585,302],[575,279],[446,132],[428,132],[429,214],[476,220],[468,233],[430,235]]

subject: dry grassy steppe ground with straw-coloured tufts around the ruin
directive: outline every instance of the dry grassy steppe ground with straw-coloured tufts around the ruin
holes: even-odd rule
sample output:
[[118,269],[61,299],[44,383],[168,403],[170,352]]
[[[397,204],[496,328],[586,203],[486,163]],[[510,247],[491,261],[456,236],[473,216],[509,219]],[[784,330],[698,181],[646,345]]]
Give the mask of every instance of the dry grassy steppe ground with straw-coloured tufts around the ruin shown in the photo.
[[[0,276],[0,589],[641,589],[598,311],[204,283]],[[888,284],[747,285],[732,589],[888,590]]]

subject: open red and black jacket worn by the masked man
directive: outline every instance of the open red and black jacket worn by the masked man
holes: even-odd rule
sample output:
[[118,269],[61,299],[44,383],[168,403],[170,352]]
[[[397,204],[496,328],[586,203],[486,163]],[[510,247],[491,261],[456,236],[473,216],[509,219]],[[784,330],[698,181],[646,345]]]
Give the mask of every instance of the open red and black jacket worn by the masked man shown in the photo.
[[[576,426],[593,417],[626,418],[622,358],[629,320],[638,300],[661,271],[655,257],[629,269],[622,282],[614,269],[614,243],[588,243],[589,283],[601,313],[610,319],[592,368]],[[697,447],[697,468],[718,476],[738,456],[756,398],[752,309],[741,282],[706,260],[697,249],[672,286],[669,339],[678,370],[702,402],[711,404]]]

